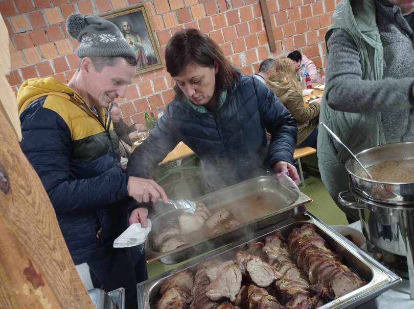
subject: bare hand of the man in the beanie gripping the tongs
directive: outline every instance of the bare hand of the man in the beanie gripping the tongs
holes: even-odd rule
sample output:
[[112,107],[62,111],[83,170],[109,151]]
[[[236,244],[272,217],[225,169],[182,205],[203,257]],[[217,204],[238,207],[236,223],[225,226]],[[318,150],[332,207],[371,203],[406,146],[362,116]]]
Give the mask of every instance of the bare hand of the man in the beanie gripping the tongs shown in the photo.
[[167,203],[168,197],[164,189],[152,179],[128,177],[128,194],[137,202],[156,202],[162,198]]

